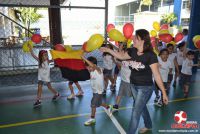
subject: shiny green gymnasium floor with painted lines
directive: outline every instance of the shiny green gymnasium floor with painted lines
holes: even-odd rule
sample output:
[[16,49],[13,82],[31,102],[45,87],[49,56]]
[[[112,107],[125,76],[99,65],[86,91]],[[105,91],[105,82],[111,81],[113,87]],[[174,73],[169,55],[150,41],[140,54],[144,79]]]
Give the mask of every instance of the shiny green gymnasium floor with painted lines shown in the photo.
[[[119,86],[118,79],[118,86]],[[90,117],[92,92],[90,82],[80,82],[85,95],[75,100],[67,100],[70,94],[67,83],[55,83],[61,98],[52,102],[52,94],[44,88],[42,106],[33,108],[37,85],[0,87],[0,134],[119,134],[127,131],[132,112],[132,98],[124,98],[119,112],[109,117],[103,108],[98,108],[96,125],[84,126]],[[117,87],[118,88],[118,87]],[[75,88],[75,92],[77,89]],[[107,91],[104,98],[108,104],[114,104],[116,94]],[[170,91],[170,102],[159,108],[153,104],[154,94],[148,103],[153,121],[153,134],[173,133],[171,125],[175,123],[177,111],[187,113],[187,121],[196,121],[200,125],[200,71],[193,77],[190,95],[183,99],[182,90],[177,87]],[[143,127],[140,120],[139,127]],[[174,129],[176,130],[176,129]],[[200,133],[200,129],[186,130],[184,133]],[[190,132],[189,132],[190,131]],[[198,132],[197,132],[198,131]],[[174,132],[175,134],[182,132]],[[147,133],[148,134],[148,133]]]

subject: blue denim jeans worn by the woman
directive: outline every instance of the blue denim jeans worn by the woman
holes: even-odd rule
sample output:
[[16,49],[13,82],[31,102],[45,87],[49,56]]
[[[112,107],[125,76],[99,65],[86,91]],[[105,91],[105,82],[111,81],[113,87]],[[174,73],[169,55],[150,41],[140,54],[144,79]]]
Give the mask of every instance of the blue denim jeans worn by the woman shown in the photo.
[[131,115],[131,121],[129,123],[128,134],[135,134],[138,124],[140,121],[140,116],[142,115],[144,119],[144,124],[146,128],[152,128],[151,117],[147,110],[147,102],[151,98],[153,93],[152,86],[135,86],[131,85],[131,90],[134,98],[134,108]]

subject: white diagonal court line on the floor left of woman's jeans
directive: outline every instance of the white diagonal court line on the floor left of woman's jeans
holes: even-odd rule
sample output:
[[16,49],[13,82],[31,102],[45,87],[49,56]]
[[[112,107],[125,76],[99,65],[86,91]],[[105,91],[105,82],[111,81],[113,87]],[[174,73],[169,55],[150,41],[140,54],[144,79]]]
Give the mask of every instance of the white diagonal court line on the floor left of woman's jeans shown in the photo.
[[106,108],[104,108],[104,111],[110,117],[110,119],[112,120],[113,124],[115,125],[115,127],[117,128],[117,130],[120,132],[120,134],[126,134],[125,130],[119,124],[119,122],[117,121],[117,119],[112,114],[110,114]]

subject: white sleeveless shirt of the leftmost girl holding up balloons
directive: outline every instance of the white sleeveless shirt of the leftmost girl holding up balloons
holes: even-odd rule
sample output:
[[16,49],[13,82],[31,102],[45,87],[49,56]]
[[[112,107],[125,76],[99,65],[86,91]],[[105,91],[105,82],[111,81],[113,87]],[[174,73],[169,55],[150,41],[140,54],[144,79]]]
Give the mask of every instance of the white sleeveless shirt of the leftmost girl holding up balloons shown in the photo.
[[50,82],[50,66],[48,61],[44,61],[42,67],[38,68],[38,80]]

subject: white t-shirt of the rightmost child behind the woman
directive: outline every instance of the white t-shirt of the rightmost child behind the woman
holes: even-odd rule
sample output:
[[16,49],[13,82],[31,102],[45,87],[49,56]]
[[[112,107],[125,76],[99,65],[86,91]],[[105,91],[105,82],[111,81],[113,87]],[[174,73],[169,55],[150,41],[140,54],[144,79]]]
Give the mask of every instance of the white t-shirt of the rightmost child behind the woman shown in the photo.
[[192,75],[192,65],[193,65],[193,61],[189,60],[188,58],[186,58],[183,61],[183,65],[182,65],[182,69],[181,69],[181,73],[183,74],[187,74],[187,75]]

